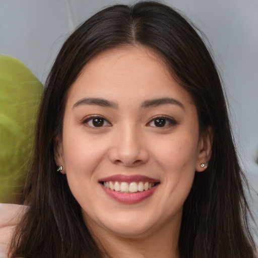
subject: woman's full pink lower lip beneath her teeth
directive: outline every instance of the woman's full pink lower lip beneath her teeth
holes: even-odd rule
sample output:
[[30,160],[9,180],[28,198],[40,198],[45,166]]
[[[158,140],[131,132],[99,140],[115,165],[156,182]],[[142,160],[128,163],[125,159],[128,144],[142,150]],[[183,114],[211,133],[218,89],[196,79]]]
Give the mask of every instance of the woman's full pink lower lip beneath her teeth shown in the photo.
[[111,197],[113,200],[123,203],[123,204],[136,204],[144,201],[145,199],[149,198],[153,195],[154,191],[157,189],[158,185],[152,187],[151,189],[147,191],[139,191],[135,193],[122,193],[119,191],[111,190],[107,187],[105,187],[103,184],[101,184],[103,190],[107,193],[109,197]]

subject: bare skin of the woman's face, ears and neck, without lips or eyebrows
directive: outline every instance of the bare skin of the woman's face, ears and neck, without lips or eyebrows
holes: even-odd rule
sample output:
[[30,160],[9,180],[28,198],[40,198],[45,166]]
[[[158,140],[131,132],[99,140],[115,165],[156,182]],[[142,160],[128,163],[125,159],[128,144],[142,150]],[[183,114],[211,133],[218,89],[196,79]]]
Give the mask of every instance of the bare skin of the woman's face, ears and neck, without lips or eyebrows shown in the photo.
[[[142,106],[157,98],[181,104]],[[103,117],[103,126],[94,127],[91,115]],[[156,126],[154,118],[164,116],[164,126]],[[211,141],[209,133],[200,136],[190,94],[159,56],[144,46],[119,47],[92,58],[71,86],[55,159],[95,240],[111,257],[179,257],[183,203],[195,171],[205,170],[200,164],[210,158]],[[119,203],[99,183],[116,174],[145,175],[159,185],[142,202]]]

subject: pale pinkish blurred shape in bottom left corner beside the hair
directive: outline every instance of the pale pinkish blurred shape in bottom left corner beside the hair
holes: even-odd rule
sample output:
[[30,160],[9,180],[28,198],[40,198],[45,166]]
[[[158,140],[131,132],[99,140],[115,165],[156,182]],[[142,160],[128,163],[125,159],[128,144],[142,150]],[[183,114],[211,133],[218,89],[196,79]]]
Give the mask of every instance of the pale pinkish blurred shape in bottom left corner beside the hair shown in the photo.
[[0,258],[7,258],[12,234],[26,209],[17,204],[0,204]]

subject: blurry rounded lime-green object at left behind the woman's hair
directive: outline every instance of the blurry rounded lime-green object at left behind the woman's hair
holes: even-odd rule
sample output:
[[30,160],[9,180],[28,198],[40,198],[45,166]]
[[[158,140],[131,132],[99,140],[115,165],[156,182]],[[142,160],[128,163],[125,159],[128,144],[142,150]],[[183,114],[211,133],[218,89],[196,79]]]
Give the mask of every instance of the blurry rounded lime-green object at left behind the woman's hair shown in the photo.
[[0,55],[0,203],[19,203],[42,92],[21,61]]

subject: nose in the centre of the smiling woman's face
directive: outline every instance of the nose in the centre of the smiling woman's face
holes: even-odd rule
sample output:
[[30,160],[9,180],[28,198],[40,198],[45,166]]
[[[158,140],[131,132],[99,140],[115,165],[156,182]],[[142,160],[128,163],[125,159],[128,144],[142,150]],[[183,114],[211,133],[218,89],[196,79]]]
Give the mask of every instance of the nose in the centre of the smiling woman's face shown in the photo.
[[135,167],[149,160],[147,144],[139,128],[121,128],[114,134],[109,160],[118,165]]

